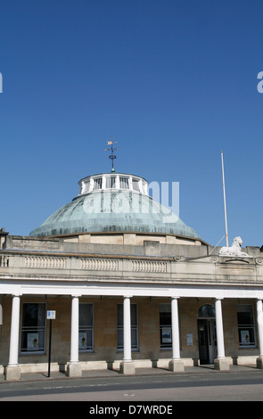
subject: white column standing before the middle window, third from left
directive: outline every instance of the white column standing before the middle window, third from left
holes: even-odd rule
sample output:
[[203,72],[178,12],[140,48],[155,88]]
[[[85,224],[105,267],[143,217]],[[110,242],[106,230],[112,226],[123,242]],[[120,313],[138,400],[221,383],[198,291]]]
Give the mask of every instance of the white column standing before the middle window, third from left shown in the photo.
[[126,375],[136,374],[135,363],[131,357],[130,299],[131,296],[124,296],[123,299],[123,360],[120,363],[120,372]]

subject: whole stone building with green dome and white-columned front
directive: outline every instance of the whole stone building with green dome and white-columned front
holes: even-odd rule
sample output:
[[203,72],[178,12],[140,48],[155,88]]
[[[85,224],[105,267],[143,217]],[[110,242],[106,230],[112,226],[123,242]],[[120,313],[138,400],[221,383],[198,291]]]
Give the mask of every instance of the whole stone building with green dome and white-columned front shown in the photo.
[[263,369],[262,248],[210,246],[144,177],[78,187],[29,237],[0,230],[0,380]]

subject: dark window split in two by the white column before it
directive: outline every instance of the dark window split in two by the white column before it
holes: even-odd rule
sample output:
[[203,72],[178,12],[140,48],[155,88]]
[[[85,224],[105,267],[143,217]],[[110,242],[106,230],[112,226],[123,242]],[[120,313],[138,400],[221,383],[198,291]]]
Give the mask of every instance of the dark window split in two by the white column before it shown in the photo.
[[[137,305],[130,305],[131,349],[138,350]],[[123,304],[117,304],[117,349],[123,350]]]

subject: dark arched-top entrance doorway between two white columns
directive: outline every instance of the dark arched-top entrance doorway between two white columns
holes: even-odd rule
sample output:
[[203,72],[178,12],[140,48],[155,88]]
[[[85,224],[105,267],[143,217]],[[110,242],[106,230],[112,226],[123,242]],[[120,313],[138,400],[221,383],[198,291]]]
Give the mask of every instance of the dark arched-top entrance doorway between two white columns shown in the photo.
[[211,304],[201,306],[198,311],[198,343],[200,364],[213,364],[217,357],[217,331],[215,308]]

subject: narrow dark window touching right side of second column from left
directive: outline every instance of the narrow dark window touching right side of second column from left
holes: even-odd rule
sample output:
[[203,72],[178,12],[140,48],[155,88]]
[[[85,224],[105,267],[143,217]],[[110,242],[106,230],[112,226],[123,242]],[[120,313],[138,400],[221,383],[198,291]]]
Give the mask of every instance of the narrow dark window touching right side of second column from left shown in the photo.
[[78,350],[79,352],[94,351],[94,314],[93,304],[79,304]]

